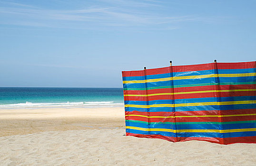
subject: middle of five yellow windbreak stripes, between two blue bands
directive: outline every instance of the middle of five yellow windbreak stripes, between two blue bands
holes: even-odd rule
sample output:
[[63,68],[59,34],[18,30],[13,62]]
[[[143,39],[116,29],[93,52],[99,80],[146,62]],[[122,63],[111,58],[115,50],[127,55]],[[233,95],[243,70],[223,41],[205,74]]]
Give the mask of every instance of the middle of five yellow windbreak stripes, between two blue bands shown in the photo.
[[180,104],[152,104],[152,105],[136,105],[125,104],[125,107],[134,108],[151,108],[151,107],[189,107],[189,106],[206,106],[206,105],[233,105],[233,104],[255,104],[255,100],[250,101],[222,101],[222,102],[195,102],[195,103],[180,103]]

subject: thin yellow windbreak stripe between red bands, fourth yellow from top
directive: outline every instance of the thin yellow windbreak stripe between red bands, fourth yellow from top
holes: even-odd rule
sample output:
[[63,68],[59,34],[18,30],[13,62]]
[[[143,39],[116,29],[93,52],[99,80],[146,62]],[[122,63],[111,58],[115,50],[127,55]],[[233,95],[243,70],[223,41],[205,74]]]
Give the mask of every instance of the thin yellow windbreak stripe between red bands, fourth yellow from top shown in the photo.
[[130,114],[125,116],[138,116],[138,117],[145,117],[145,118],[193,118],[193,117],[232,117],[232,116],[254,116],[256,113],[251,114],[234,114],[234,115],[184,115],[184,116],[147,116],[147,115],[136,115]]

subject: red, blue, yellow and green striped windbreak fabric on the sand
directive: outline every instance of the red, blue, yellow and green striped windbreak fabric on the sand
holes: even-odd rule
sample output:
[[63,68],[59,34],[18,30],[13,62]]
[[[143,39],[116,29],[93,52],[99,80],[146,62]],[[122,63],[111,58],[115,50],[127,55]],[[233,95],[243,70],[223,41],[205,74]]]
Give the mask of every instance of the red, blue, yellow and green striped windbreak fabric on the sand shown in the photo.
[[256,62],[124,71],[126,135],[256,143]]

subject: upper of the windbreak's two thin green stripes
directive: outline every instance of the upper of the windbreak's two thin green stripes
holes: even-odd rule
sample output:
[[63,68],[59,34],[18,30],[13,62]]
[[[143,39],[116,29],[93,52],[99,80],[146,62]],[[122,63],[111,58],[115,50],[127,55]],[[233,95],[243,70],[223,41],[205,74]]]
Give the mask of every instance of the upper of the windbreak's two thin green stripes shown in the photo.
[[156,86],[150,88],[124,88],[124,91],[145,91],[151,89],[166,89],[166,88],[183,88],[183,87],[193,87],[193,86],[209,86],[209,85],[250,85],[256,84],[256,82],[245,82],[245,83],[197,83],[197,84],[186,84],[186,85],[174,85],[174,86]]

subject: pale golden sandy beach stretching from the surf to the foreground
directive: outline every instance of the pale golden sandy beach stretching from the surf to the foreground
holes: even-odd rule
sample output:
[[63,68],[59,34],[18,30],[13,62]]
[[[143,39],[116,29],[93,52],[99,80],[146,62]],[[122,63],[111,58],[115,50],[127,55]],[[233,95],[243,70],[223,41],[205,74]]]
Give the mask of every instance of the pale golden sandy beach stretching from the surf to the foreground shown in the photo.
[[123,107],[0,110],[0,166],[256,165],[256,144],[172,143],[124,128]]

